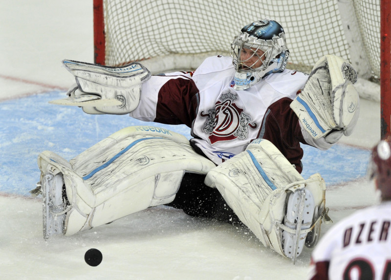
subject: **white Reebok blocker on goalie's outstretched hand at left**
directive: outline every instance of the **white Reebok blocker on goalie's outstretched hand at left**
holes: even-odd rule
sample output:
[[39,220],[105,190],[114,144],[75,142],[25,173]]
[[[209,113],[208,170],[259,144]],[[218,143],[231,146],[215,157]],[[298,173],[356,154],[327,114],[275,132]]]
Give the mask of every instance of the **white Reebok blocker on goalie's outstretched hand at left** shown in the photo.
[[148,69],[133,62],[122,67],[73,60],[63,64],[76,80],[68,97],[49,103],[82,107],[87,114],[128,114],[140,101],[141,84],[151,78]]

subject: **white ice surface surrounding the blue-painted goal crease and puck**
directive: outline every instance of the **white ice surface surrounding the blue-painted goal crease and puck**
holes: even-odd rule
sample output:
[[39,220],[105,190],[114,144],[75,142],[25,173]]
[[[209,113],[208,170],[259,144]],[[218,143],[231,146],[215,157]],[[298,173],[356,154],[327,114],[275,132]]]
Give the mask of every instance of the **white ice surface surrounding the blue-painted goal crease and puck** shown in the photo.
[[[61,66],[63,59],[93,62],[92,0],[0,4],[0,107],[12,98],[65,91],[73,79]],[[369,149],[379,139],[380,105],[362,99],[357,128],[341,142]],[[27,175],[38,181],[38,173]],[[365,178],[327,187],[326,206],[334,223],[374,203],[373,186]],[[322,232],[331,226],[323,225]],[[97,267],[84,261],[90,248],[103,254]],[[305,248],[293,265],[244,228],[167,207],[44,241],[40,200],[0,194],[1,279],[299,280],[307,277],[310,254]]]

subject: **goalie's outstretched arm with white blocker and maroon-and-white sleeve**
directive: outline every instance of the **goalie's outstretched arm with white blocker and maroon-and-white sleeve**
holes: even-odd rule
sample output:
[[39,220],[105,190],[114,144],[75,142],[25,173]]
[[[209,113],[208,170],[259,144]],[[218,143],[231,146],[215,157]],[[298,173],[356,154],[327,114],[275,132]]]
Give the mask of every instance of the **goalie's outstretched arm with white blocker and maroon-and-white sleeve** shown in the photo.
[[195,87],[192,73],[151,76],[150,71],[139,63],[123,67],[71,60],[63,63],[74,75],[76,84],[68,91],[67,98],[51,103],[79,106],[87,114],[132,113],[130,116],[141,120],[189,123],[187,112]]

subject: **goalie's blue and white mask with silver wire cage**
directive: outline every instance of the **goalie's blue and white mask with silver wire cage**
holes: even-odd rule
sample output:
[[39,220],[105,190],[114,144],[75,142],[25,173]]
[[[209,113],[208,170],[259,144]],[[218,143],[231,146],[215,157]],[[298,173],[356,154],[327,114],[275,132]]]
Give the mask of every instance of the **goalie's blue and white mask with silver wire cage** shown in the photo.
[[282,26],[264,19],[244,26],[231,44],[234,89],[245,90],[264,76],[285,70],[289,51]]

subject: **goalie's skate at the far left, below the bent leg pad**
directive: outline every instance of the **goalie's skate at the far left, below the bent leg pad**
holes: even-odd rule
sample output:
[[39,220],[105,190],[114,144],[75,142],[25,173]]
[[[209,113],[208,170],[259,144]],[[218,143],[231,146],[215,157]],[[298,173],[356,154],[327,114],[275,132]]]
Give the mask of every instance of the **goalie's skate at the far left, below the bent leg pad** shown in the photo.
[[43,238],[63,234],[67,201],[64,195],[64,179],[61,173],[45,174],[41,182],[43,199]]

